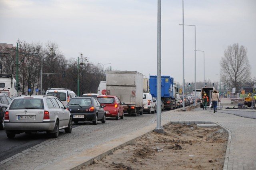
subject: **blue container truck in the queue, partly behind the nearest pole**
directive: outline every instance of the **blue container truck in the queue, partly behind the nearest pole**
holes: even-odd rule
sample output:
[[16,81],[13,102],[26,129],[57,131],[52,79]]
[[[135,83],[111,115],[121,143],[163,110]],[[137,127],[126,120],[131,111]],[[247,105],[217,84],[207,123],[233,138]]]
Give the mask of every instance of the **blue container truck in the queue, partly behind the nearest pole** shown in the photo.
[[[149,93],[157,98],[157,76],[149,77]],[[173,78],[170,76],[161,76],[161,100],[164,103],[164,109],[173,110],[176,108],[176,99],[174,98]]]

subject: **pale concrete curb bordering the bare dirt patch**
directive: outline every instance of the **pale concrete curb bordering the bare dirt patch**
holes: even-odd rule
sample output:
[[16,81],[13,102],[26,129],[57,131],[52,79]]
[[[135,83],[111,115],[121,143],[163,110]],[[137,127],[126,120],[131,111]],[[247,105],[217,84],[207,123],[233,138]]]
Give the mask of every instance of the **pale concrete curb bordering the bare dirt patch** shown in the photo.
[[[231,142],[231,131],[223,127],[222,125],[215,123],[215,122],[204,122],[204,121],[175,121],[169,122],[164,121],[162,122],[162,126],[167,126],[169,124],[217,124],[218,128],[223,128],[228,132],[228,144],[226,149],[226,155],[224,160],[224,168],[223,170],[227,170],[228,167],[228,158],[229,158],[229,150],[230,150],[230,142]],[[122,146],[126,146],[128,144],[132,144],[135,142],[136,139],[144,136],[146,134],[150,134],[156,128],[156,123],[147,126],[143,129],[140,129],[136,132],[131,132],[125,136],[120,138],[110,140],[105,144],[100,144],[94,148],[90,148],[88,150],[83,151],[81,154],[69,157],[64,159],[62,162],[58,162],[57,164],[50,165],[47,167],[48,170],[80,170],[83,166],[92,164],[93,160],[101,160],[104,156],[109,155],[110,153],[114,152],[118,148]]]

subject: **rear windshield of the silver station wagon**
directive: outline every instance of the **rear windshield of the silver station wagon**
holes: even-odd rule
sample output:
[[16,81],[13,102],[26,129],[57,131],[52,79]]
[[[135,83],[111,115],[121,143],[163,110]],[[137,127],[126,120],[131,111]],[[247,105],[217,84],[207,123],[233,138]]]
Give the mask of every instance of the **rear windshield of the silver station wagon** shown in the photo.
[[41,98],[16,98],[10,105],[12,109],[44,109],[44,102]]

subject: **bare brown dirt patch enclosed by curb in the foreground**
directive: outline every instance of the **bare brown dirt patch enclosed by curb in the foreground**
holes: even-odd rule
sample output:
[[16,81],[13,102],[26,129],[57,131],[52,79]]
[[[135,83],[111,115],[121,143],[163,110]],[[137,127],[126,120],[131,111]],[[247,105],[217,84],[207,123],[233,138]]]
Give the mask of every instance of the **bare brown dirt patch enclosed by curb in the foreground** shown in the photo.
[[220,128],[170,124],[82,170],[222,170],[228,134]]

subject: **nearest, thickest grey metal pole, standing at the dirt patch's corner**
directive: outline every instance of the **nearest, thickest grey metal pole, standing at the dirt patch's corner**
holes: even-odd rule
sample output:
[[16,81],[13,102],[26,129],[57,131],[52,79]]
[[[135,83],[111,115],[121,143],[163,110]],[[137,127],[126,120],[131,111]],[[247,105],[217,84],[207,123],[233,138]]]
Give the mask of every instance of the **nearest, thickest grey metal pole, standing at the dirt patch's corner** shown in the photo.
[[[158,0],[157,12],[157,103],[161,103],[161,0]],[[156,106],[157,119],[155,132],[164,134],[161,127],[161,104]]]

